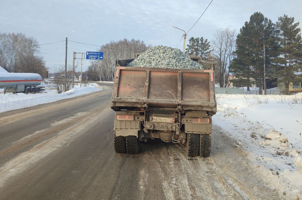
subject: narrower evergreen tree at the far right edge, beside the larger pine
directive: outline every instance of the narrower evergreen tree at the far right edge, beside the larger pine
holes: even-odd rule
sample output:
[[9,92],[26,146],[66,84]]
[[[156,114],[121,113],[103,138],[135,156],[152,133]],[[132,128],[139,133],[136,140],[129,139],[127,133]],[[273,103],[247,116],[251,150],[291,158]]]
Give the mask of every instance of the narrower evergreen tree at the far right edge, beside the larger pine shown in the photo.
[[295,72],[301,71],[299,63],[302,61],[302,40],[298,25],[299,22],[294,23],[294,17],[285,14],[276,23],[279,56],[273,61],[278,69],[275,73],[278,83],[283,83],[286,95],[290,94],[290,83],[302,81],[300,76],[295,75]]

